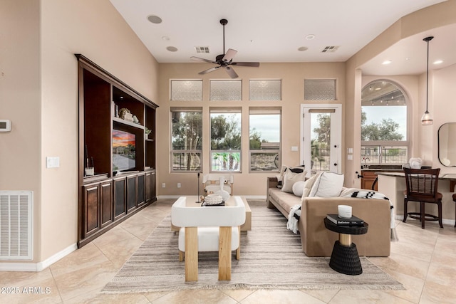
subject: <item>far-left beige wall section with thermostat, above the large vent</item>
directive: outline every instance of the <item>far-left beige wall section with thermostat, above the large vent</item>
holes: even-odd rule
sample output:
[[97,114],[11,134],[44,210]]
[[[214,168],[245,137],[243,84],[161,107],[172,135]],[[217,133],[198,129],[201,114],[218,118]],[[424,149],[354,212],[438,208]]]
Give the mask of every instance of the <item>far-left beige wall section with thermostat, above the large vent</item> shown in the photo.
[[0,133],[0,191],[33,192],[34,231],[41,212],[39,23],[38,1],[0,2],[0,118],[12,122],[11,132]]

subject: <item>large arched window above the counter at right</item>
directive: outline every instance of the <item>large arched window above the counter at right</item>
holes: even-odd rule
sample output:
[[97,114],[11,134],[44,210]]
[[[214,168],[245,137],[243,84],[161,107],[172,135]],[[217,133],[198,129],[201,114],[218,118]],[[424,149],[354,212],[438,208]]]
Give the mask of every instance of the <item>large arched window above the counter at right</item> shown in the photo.
[[361,164],[408,162],[408,107],[403,90],[375,80],[361,93]]

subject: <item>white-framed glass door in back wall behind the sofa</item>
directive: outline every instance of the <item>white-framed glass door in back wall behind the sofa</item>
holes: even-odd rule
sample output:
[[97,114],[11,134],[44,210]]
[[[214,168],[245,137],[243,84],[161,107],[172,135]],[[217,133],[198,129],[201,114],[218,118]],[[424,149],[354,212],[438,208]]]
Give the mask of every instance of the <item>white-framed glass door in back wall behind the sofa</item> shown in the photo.
[[341,105],[301,105],[301,164],[307,175],[341,173]]

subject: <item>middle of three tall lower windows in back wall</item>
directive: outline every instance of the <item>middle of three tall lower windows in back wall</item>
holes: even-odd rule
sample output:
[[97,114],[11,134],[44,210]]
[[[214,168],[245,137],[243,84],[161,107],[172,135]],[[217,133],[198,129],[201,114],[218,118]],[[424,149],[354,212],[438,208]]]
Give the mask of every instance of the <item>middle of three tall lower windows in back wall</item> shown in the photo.
[[211,108],[211,172],[241,172],[241,109]]

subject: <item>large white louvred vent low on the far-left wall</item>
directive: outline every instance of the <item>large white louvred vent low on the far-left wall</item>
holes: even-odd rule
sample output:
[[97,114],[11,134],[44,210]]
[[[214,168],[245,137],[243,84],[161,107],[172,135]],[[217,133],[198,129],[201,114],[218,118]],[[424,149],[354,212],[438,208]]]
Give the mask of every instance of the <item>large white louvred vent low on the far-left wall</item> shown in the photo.
[[32,192],[0,191],[0,261],[31,260]]

